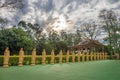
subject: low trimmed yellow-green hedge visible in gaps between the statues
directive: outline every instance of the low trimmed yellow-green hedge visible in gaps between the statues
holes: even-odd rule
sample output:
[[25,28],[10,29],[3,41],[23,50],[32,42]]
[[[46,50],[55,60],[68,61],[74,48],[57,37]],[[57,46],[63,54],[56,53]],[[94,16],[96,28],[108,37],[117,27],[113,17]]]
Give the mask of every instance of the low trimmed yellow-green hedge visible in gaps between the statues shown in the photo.
[[[17,66],[18,65],[18,56],[10,56],[10,60],[9,60],[9,66]],[[75,62],[77,62],[78,57],[75,56]],[[90,57],[89,57],[90,59]],[[108,56],[109,59],[109,56]],[[50,60],[51,60],[51,56],[47,55],[46,57],[46,64],[50,64]],[[82,57],[80,58],[80,60],[82,61]],[[36,64],[41,64],[42,61],[42,57],[41,56],[37,56],[36,57]],[[63,63],[66,62],[66,56],[63,56]],[[86,61],[86,56],[85,56],[85,61]],[[69,62],[72,62],[72,55],[69,56]],[[59,63],[59,56],[55,56],[55,63]],[[24,61],[23,61],[23,65],[30,65],[31,64],[31,56],[24,56]],[[3,65],[3,56],[0,56],[0,66]]]

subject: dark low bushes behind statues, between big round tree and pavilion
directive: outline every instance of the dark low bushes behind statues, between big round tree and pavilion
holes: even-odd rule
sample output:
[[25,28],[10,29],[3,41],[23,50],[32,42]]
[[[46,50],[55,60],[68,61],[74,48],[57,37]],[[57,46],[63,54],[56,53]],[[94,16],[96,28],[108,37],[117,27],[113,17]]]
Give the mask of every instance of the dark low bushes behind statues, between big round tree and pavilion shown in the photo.
[[59,41],[56,43],[52,42],[47,42],[47,43],[42,43],[39,42],[38,45],[36,46],[37,48],[37,54],[42,54],[43,49],[46,50],[46,53],[49,55],[51,54],[51,50],[55,50],[55,54],[58,54],[60,50],[63,50],[64,52],[67,50],[67,43],[64,41]]

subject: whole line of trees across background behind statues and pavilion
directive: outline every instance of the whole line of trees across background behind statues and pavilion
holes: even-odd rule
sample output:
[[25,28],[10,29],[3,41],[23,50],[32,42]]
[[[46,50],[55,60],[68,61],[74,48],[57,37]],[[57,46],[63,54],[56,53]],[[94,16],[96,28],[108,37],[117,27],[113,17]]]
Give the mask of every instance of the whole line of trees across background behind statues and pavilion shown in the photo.
[[6,47],[11,50],[11,55],[18,54],[21,47],[24,48],[25,54],[29,54],[33,48],[37,49],[37,54],[41,54],[46,49],[50,54],[51,50],[55,50],[55,54],[62,49],[63,53],[67,50],[67,46],[78,44],[84,38],[96,40],[102,33],[106,36],[103,39],[108,42],[105,47],[106,52],[113,54],[120,52],[120,19],[111,10],[103,9],[99,13],[100,23],[87,22],[71,33],[65,30],[56,31],[48,27],[42,27],[39,24],[32,24],[20,21],[12,28],[5,28],[7,20],[0,18],[0,55]]

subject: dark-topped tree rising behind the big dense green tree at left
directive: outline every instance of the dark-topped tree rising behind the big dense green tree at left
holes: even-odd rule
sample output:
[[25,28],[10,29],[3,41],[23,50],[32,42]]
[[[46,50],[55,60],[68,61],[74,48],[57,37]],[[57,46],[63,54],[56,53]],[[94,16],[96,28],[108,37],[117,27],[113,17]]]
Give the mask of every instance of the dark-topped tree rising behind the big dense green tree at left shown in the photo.
[[22,28],[29,38],[33,41],[41,39],[43,35],[43,28],[39,24],[26,23],[25,21],[20,21],[18,27]]

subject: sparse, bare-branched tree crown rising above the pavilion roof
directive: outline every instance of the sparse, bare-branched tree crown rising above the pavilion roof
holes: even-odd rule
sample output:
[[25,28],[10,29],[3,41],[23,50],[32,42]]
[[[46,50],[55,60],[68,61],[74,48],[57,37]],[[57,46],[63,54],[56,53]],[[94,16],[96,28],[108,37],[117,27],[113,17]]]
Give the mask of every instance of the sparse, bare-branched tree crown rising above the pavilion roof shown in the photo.
[[84,23],[80,29],[77,30],[77,34],[81,36],[81,38],[88,38],[91,40],[95,40],[100,33],[100,26],[95,23]]

